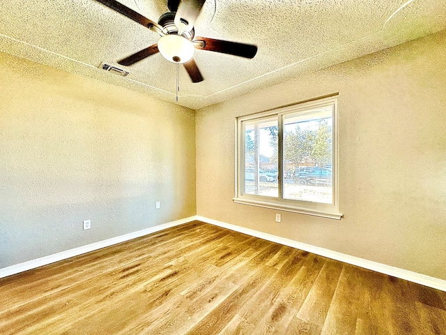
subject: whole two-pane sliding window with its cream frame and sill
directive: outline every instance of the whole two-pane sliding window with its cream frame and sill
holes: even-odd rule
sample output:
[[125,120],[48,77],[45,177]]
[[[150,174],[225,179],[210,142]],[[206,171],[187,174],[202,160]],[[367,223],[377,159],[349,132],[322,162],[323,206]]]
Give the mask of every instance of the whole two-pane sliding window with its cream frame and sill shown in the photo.
[[234,202],[341,218],[337,96],[237,119]]

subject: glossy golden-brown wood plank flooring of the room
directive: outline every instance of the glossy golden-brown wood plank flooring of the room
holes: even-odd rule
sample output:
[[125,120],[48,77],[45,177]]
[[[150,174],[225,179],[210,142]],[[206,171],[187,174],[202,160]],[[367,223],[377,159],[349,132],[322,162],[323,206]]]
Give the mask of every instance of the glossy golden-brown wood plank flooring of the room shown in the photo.
[[446,292],[194,221],[0,279],[0,334],[446,334]]

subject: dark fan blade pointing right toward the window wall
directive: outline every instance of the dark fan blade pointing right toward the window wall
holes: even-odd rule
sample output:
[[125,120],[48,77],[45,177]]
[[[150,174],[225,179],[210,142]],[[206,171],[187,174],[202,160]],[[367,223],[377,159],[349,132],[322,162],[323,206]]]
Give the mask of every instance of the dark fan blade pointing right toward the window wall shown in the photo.
[[197,49],[233,54],[234,56],[254,58],[257,46],[252,44],[230,42],[229,40],[215,40],[214,38],[197,37],[193,42],[201,42],[203,45],[196,46]]

